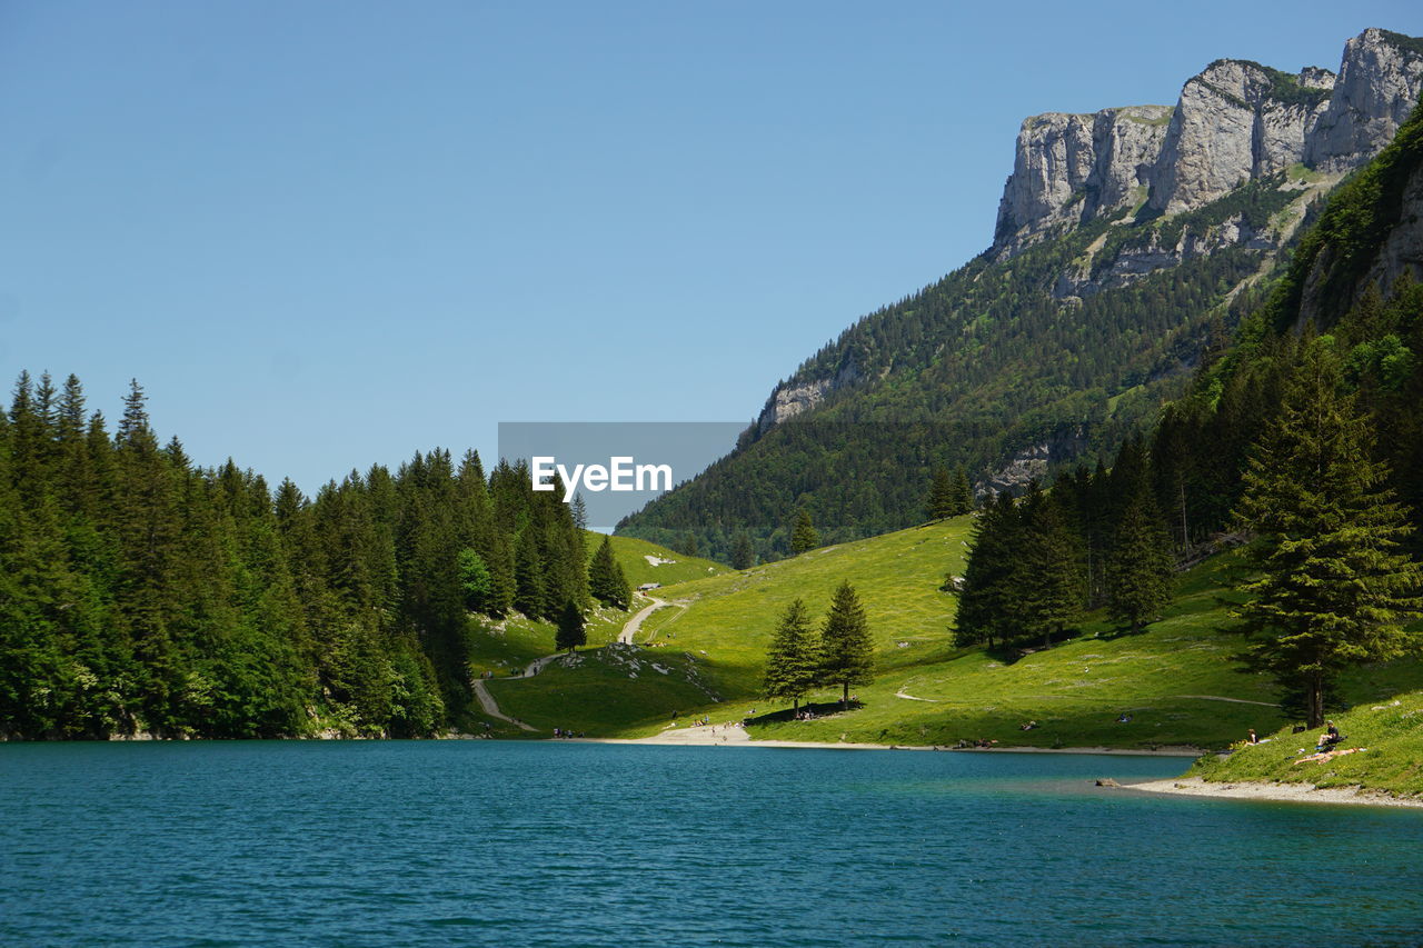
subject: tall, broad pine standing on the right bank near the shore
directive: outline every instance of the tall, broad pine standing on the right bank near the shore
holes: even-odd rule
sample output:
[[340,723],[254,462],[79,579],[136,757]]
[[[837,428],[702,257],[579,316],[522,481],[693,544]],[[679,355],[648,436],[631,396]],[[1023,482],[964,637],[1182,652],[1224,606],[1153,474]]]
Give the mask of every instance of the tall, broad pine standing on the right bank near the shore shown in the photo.
[[1423,611],[1423,572],[1400,551],[1412,532],[1375,460],[1369,416],[1340,394],[1333,340],[1305,344],[1278,420],[1245,471],[1241,522],[1258,534],[1259,576],[1237,615],[1258,636],[1257,660],[1302,686],[1311,727],[1342,669],[1416,652],[1405,621]]

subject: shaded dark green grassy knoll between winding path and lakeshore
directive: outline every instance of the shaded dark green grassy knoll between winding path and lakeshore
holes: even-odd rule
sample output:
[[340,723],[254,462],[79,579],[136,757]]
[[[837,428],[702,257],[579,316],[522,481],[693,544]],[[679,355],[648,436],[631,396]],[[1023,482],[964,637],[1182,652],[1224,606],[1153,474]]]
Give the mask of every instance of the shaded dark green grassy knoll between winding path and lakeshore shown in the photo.
[[576,652],[535,678],[487,686],[505,715],[542,732],[566,727],[589,737],[652,734],[670,723],[673,712],[716,697],[693,656],[626,645]]

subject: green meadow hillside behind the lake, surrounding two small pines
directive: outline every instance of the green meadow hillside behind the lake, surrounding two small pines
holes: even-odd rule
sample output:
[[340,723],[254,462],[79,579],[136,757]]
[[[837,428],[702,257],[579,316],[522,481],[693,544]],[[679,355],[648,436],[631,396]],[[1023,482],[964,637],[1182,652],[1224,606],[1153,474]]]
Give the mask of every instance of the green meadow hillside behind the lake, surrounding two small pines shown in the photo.
[[[538,726],[598,736],[655,733],[677,712],[679,722],[748,717],[753,737],[794,740],[1225,747],[1249,727],[1268,733],[1286,723],[1274,682],[1244,669],[1242,641],[1225,631],[1229,558],[1181,576],[1163,621],[1141,635],[1094,618],[1054,648],[990,653],[953,648],[955,596],[939,589],[946,574],[962,572],[968,530],[969,518],[956,518],[670,585],[659,596],[673,605],[638,635],[643,665],[667,673],[593,652],[576,668],[497,682],[498,700]],[[840,712],[835,689],[825,689],[810,697],[822,716],[787,720],[785,706],[757,697],[766,643],[791,599],[820,616],[844,578],[865,604],[877,678],[857,689],[858,707]],[[1419,665],[1403,662],[1360,669],[1340,696],[1372,702],[1419,685]],[[1020,730],[1030,720],[1037,726]]]

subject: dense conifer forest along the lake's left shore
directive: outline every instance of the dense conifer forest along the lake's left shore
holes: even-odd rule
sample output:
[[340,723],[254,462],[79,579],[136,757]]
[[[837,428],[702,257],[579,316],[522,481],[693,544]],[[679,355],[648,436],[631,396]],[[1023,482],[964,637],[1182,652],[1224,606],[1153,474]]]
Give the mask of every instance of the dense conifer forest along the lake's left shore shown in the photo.
[[80,380],[0,413],[0,734],[428,736],[482,616],[589,605],[582,531],[522,465],[416,454],[306,498],[112,434]]

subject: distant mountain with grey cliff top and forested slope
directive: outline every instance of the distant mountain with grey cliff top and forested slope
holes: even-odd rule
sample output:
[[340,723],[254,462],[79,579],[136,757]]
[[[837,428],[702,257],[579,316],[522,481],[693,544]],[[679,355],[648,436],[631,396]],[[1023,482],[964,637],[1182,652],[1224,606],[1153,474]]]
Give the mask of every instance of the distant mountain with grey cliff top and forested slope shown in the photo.
[[983,488],[1116,448],[1259,302],[1316,201],[1393,137],[1423,41],[1349,40],[1336,74],[1220,60],[1174,108],[1029,118],[993,245],[841,333],[773,390],[736,450],[628,518],[726,557],[924,520],[938,464]]

